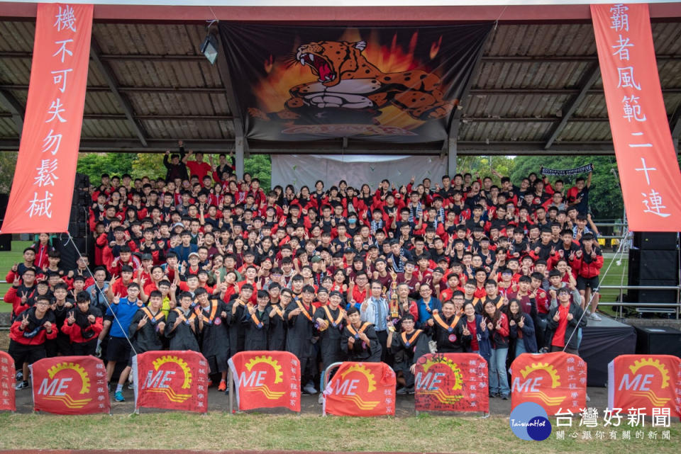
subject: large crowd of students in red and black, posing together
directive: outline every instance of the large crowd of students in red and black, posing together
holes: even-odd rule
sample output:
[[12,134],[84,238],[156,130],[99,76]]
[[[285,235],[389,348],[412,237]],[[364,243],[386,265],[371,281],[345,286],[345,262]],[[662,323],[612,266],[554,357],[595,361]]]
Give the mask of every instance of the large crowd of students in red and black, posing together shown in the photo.
[[581,327],[599,319],[591,174],[571,188],[493,172],[500,184],[457,174],[265,192],[226,155],[207,163],[182,142],[164,164],[165,180],[104,174],[91,188],[92,257],[63,263],[41,233],[7,274],[17,389],[40,358],[98,355],[109,381],[126,366],[111,385],[121,402],[132,356],[169,348],[200,351],[226,390],[228,358],[269,349],[299,358],[309,394],[345,360],[389,363],[405,394],[423,353],[468,351],[507,399],[512,358],[578,354]]

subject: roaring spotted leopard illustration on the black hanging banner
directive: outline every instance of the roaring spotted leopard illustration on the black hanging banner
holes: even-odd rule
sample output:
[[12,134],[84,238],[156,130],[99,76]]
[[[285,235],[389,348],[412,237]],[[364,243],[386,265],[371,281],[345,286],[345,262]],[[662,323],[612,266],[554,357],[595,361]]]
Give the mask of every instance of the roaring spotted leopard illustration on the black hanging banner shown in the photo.
[[292,87],[284,110],[268,115],[250,108],[250,115],[261,120],[311,117],[320,123],[371,121],[392,105],[416,120],[448,117],[456,101],[443,99],[438,76],[420,69],[383,73],[362,55],[365,48],[365,41],[301,45],[296,62],[309,67],[317,80]]

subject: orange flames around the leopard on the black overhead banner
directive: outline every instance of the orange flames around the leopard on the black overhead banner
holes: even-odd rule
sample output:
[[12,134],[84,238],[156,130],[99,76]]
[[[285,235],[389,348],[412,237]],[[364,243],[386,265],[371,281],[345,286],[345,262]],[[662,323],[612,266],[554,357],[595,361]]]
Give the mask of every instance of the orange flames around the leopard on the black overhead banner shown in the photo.
[[[430,64],[421,62],[414,56],[416,43],[419,40],[418,32],[411,35],[406,49],[397,42],[397,35],[393,36],[389,45],[381,44],[377,30],[372,30],[368,36],[362,36],[357,28],[348,28],[343,32],[343,35],[338,37],[338,40],[347,42],[366,41],[367,47],[362,55],[381,72],[405,72],[411,69],[431,71]],[[442,38],[438,41],[436,52],[439,51],[441,40]],[[295,54],[301,44],[304,43],[300,42],[299,39],[293,40],[291,52]],[[432,59],[434,56],[432,49],[431,55]],[[279,112],[279,110],[284,109],[284,103],[290,97],[289,89],[293,86],[316,81],[316,76],[311,74],[309,68],[301,66],[301,64],[289,66],[285,55],[276,57],[270,55],[270,59],[265,61],[265,71],[267,76],[254,84],[253,93],[258,99],[257,107],[267,113]],[[421,120],[411,118],[394,106],[385,106],[381,109],[381,112],[381,115],[377,117],[377,121],[381,125],[413,130],[424,123]]]

